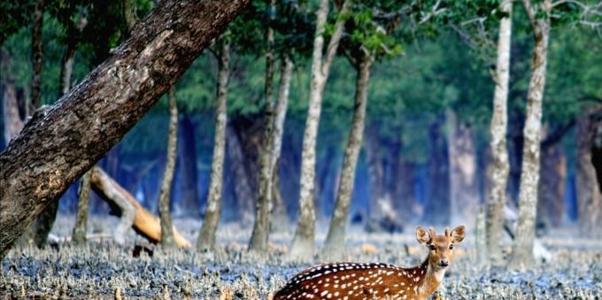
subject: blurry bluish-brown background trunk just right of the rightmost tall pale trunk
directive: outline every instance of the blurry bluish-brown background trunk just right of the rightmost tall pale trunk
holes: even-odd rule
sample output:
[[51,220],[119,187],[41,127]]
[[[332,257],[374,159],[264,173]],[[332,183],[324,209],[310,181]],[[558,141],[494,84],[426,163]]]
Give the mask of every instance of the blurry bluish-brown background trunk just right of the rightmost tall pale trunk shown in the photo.
[[564,194],[567,182],[567,157],[562,144],[542,147],[541,181],[538,187],[537,220],[545,227],[560,227],[565,216]]

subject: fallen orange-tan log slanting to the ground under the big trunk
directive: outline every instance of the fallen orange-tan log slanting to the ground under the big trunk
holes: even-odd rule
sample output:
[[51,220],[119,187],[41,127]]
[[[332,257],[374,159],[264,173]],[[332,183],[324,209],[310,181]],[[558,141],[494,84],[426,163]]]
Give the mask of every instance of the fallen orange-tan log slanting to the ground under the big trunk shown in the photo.
[[[161,241],[161,223],[158,217],[144,209],[134,196],[113,181],[101,168],[93,168],[90,184],[94,192],[111,206],[112,213],[121,218],[120,225],[115,229],[116,242],[125,242],[128,227],[132,227],[137,234],[143,235],[151,242]],[[192,247],[175,227],[174,239],[180,248]]]

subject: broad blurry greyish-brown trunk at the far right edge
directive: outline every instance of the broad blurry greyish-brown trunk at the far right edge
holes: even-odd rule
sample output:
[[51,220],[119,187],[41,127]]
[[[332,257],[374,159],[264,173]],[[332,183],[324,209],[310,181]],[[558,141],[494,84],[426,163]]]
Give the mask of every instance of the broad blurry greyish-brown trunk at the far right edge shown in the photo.
[[602,112],[600,107],[592,108],[577,118],[577,205],[579,229],[583,236],[601,237],[602,194],[598,189],[596,170],[591,161],[591,149],[596,128],[593,116]]

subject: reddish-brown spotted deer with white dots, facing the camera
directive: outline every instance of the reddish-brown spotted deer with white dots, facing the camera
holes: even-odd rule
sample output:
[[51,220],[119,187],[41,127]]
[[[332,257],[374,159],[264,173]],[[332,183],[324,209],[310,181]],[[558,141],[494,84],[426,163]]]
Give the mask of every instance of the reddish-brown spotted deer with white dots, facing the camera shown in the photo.
[[328,263],[298,273],[276,292],[280,299],[425,299],[443,281],[453,260],[453,246],[464,239],[465,228],[416,228],[416,239],[428,247],[421,265],[404,268],[390,264]]

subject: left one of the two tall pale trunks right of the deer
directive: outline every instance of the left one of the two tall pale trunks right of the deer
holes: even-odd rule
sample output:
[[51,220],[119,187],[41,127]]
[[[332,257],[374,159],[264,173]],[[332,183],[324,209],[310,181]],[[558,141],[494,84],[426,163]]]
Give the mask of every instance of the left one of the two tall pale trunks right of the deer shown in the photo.
[[496,88],[493,96],[493,114],[490,124],[491,181],[487,192],[487,214],[485,218],[487,250],[493,262],[502,258],[499,242],[502,240],[503,213],[506,204],[506,184],[510,165],[506,134],[508,127],[507,99],[508,80],[510,78],[510,42],[512,35],[512,0],[501,4],[502,12],[508,15],[499,21],[498,62],[494,81]]

